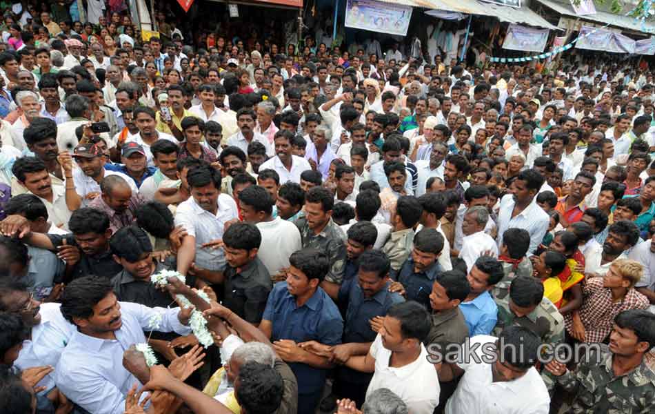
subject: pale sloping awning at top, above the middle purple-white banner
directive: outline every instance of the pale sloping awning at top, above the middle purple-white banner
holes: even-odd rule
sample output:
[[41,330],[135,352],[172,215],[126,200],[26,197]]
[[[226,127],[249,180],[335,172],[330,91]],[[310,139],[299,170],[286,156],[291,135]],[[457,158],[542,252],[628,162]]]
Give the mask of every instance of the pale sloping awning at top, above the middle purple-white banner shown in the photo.
[[[447,10],[449,12],[460,12],[464,14],[478,14],[481,16],[496,17],[500,21],[507,21],[508,23],[525,24],[527,26],[534,26],[538,28],[547,28],[552,30],[559,29],[548,23],[543,17],[536,14],[536,12],[523,6],[521,8],[514,8],[509,6],[501,6],[496,3],[487,3],[478,0],[429,0],[432,5],[430,8],[436,10]],[[430,14],[430,10],[426,12]]]

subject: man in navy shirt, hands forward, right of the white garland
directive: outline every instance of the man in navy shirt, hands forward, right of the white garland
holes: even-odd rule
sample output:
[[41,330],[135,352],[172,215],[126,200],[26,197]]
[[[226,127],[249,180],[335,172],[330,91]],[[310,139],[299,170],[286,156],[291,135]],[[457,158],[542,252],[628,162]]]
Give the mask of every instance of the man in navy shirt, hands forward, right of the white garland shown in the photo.
[[305,351],[299,344],[341,344],[343,320],[330,296],[319,287],[330,269],[325,253],[305,248],[292,254],[289,262],[287,279],[273,287],[259,329],[296,375],[298,413],[312,414],[332,364],[328,357]]

